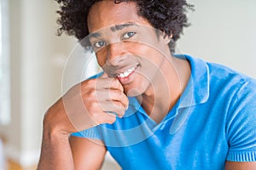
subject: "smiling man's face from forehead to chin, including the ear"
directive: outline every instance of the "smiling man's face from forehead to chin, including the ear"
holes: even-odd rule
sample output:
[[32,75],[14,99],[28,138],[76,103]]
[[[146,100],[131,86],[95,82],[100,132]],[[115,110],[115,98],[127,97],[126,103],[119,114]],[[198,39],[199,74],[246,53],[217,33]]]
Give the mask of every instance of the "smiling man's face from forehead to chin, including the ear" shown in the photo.
[[108,77],[119,79],[125,94],[137,96],[154,86],[155,77],[162,74],[168,42],[137,15],[136,3],[95,3],[88,28],[99,65]]

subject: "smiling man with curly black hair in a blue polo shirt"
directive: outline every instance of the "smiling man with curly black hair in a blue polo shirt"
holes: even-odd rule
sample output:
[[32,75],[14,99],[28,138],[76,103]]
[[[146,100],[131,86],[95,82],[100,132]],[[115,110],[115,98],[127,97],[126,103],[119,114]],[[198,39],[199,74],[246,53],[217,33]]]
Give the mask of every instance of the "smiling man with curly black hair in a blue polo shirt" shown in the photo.
[[58,2],[104,72],[49,108],[38,169],[256,169],[256,82],[172,53],[186,1]]

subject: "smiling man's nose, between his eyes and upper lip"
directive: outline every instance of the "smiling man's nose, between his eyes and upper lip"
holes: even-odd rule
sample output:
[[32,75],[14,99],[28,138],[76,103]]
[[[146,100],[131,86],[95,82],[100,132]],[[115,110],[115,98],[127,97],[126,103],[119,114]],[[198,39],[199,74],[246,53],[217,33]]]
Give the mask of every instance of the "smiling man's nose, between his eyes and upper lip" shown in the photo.
[[108,65],[120,65],[128,57],[122,42],[114,42],[108,45]]

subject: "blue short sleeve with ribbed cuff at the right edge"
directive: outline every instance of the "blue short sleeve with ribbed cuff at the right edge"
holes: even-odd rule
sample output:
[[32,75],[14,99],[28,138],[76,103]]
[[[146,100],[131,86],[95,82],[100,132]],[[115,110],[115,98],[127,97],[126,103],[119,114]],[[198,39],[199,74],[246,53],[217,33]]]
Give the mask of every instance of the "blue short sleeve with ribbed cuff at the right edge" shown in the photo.
[[244,82],[230,104],[226,133],[228,161],[256,161],[256,82]]

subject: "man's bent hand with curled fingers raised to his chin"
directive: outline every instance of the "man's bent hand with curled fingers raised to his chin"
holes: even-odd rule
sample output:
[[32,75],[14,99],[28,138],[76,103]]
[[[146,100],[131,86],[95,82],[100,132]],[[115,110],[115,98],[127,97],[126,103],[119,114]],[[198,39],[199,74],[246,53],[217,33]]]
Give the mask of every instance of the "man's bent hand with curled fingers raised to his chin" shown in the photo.
[[[74,133],[102,123],[113,123],[128,107],[124,88],[107,74],[85,80],[67,91],[44,117],[51,132]],[[113,114],[113,113],[116,113]]]

